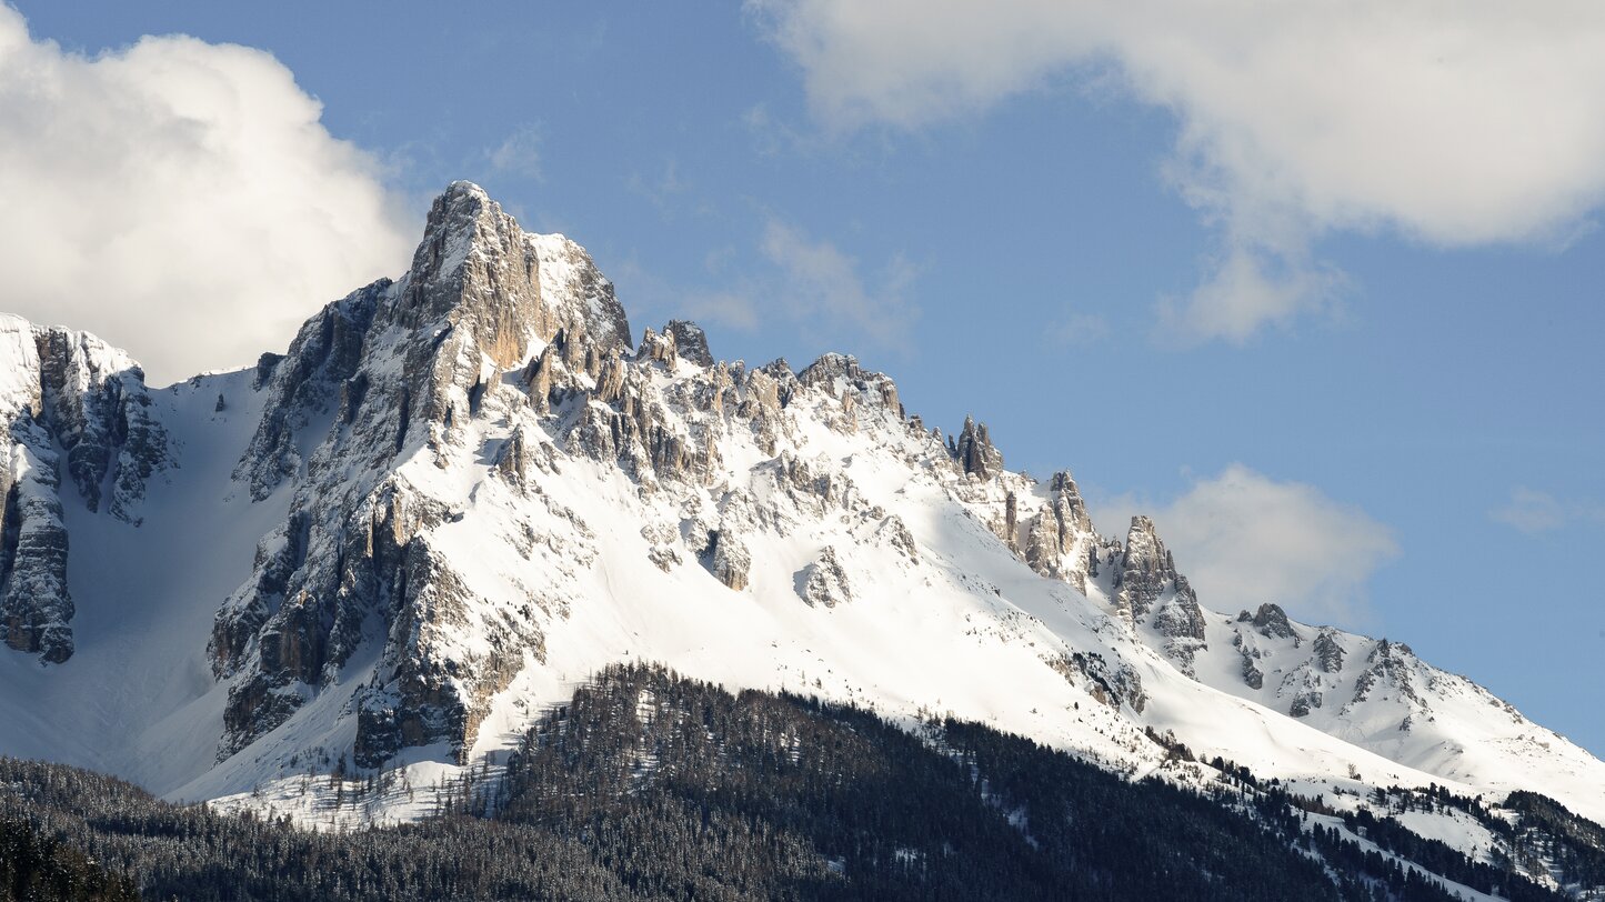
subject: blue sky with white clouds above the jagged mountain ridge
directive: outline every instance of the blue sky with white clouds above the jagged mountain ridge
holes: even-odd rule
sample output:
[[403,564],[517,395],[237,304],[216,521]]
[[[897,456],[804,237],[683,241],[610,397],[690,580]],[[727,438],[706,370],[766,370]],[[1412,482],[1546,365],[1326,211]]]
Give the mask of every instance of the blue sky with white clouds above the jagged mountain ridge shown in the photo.
[[[14,3],[13,53],[59,69],[48,103],[90,124],[48,157],[37,130],[0,135],[0,160],[37,169],[22,218],[83,228],[96,255],[108,233],[141,249],[71,297],[35,265],[21,313],[128,347],[154,380],[247,363],[358,276],[403,271],[432,193],[469,178],[584,244],[637,332],[690,316],[724,358],[855,353],[926,424],[976,414],[1011,467],[1069,467],[1103,530],[1154,512],[1205,605],[1279,600],[1401,639],[1605,753],[1605,26],[1587,6],[1449,37],[1392,5],[1345,29],[1101,3],[324,6]],[[1321,37],[1339,32],[1353,43]],[[199,40],[130,55],[148,34]],[[5,47],[0,82],[21,71]],[[247,101],[148,109],[180,63]],[[117,100],[140,83],[144,101]],[[0,83],[0,109],[40,103]],[[262,109],[286,114],[233,144],[186,136]],[[83,135],[106,122],[138,141],[111,156],[103,135],[96,157]],[[106,226],[122,186],[178,178],[169,140],[210,156]],[[48,185],[72,165],[109,181]],[[231,172],[268,199],[205,177]],[[226,234],[140,233],[169,204]],[[324,221],[343,209],[371,228]],[[8,271],[66,254],[0,238]],[[302,273],[295,241],[331,258]],[[172,260],[212,281],[149,273]],[[140,323],[162,303],[205,327]]]

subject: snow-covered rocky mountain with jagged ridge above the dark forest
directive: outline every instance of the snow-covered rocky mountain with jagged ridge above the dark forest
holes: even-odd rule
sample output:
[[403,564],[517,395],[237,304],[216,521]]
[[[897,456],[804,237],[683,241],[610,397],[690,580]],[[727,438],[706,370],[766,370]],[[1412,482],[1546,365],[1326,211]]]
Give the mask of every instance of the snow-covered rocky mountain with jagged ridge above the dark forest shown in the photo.
[[631,339],[578,244],[469,183],[400,279],[250,369],[152,390],[0,319],[0,753],[295,811],[279,790],[335,761],[422,788],[496,764],[642,660],[1128,774],[1207,782],[1180,742],[1337,807],[1438,783],[1605,822],[1563,737],[1408,645],[1197,599],[1146,517],[1101,533],[1067,472],[926,429],[851,356]]

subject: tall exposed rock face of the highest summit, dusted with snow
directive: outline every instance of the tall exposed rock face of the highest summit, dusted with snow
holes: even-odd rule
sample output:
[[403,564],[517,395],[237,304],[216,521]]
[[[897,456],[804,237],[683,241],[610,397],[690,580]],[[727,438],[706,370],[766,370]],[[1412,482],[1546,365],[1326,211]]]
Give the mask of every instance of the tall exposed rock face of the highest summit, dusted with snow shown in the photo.
[[[409,745],[472,745],[490,697],[526,656],[544,655],[541,620],[568,602],[531,589],[504,611],[483,599],[437,547],[461,512],[408,469],[472,456],[477,416],[544,409],[576,379],[595,384],[605,361],[615,368],[600,380],[607,401],[629,408],[628,347],[624,311],[583,249],[525,234],[477,186],[454,183],[401,281],[329,305],[282,360],[258,366],[268,400],[238,475],[255,498],[292,477],[297,488],[254,578],[217,616],[213,671],[231,682],[220,758],[289,719],[368,644],[380,663],[358,697],[363,762]],[[530,372],[528,396],[504,379],[520,372]],[[644,462],[684,457],[652,430],[650,409],[612,412],[618,422],[597,424],[608,446],[637,446]],[[308,446],[303,461],[297,448]],[[554,467],[551,443],[515,433],[496,467],[507,491],[544,499],[538,473]],[[589,563],[589,528],[552,499],[536,510],[507,536],[512,551],[549,557],[557,571]],[[480,642],[456,647],[462,634]]]

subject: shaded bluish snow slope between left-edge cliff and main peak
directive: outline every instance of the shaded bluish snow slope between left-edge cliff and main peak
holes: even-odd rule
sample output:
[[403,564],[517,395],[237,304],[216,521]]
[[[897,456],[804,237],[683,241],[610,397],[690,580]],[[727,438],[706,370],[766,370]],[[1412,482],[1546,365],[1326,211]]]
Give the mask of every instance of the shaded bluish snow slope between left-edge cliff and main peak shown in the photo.
[[[217,411],[218,395],[233,404]],[[260,411],[247,374],[152,392],[151,408],[170,437],[172,467],[148,485],[138,526],[63,491],[77,648],[51,666],[0,655],[0,745],[169,790],[215,758],[212,615],[284,506],[254,506],[230,478]]]

